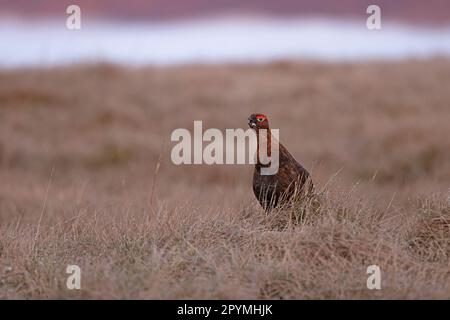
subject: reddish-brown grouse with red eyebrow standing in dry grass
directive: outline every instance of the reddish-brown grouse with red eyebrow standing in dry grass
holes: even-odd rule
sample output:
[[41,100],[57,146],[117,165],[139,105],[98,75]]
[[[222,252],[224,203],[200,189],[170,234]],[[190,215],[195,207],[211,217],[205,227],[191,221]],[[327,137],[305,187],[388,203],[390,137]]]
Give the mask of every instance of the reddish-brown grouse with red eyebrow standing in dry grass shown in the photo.
[[[253,173],[253,192],[261,206],[270,210],[283,202],[293,200],[301,201],[306,195],[312,194],[313,183],[309,172],[298,163],[287,149],[275,138],[272,137],[269,129],[269,120],[263,114],[252,114],[249,118],[249,126],[257,134],[257,152],[262,139],[267,139],[267,155],[271,155],[271,142],[279,148],[279,168],[274,175],[262,175],[261,168],[264,165],[260,162],[259,154]],[[260,134],[260,130],[265,129],[267,134]],[[261,131],[262,132],[262,131]],[[269,165],[266,165],[269,166]]]

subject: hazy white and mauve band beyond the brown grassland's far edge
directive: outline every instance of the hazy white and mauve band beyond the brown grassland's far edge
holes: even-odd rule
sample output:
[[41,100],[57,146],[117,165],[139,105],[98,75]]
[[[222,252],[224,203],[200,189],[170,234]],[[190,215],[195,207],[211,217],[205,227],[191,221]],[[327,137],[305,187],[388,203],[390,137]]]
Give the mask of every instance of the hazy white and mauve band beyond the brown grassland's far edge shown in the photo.
[[[81,7],[73,32],[71,4]],[[366,28],[370,4],[380,31]],[[448,56],[449,24],[445,0],[0,0],[0,66]]]

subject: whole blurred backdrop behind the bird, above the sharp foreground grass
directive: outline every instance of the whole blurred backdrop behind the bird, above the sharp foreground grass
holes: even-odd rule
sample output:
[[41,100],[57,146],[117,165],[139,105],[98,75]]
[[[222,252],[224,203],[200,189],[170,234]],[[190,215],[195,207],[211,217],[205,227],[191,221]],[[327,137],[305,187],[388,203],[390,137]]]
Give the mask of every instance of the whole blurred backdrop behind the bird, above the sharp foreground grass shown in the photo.
[[[71,4],[81,30],[66,27]],[[254,112],[321,183],[339,171],[387,198],[446,191],[450,2],[377,1],[372,31],[370,4],[0,0],[0,174],[24,189],[5,192],[44,190],[55,165],[71,188],[101,184],[93,201],[120,185],[145,199],[160,161],[161,197],[207,186],[226,202],[229,188],[240,206],[251,168],[175,166],[169,139]]]

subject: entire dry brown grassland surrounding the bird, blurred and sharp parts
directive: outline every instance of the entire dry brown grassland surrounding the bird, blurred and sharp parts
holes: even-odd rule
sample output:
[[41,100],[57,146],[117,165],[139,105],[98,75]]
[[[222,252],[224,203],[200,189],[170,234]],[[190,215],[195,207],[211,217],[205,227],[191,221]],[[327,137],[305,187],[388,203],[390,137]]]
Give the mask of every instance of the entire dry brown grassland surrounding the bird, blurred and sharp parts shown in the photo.
[[[317,216],[264,213],[251,165],[172,164],[172,130],[254,112]],[[448,299],[450,61],[3,70],[0,182],[3,299]]]

